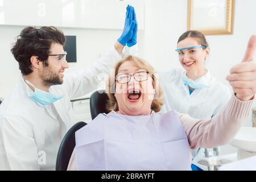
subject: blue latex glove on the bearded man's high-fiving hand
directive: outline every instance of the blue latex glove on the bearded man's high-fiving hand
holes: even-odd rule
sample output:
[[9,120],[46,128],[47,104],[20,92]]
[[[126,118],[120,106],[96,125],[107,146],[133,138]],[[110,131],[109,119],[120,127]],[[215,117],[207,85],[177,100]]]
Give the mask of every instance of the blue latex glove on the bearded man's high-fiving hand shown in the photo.
[[133,20],[133,6],[128,5],[126,7],[125,27],[123,28],[122,35],[118,39],[118,42],[123,46],[126,46],[127,42],[133,37],[133,30],[135,27],[135,21]]

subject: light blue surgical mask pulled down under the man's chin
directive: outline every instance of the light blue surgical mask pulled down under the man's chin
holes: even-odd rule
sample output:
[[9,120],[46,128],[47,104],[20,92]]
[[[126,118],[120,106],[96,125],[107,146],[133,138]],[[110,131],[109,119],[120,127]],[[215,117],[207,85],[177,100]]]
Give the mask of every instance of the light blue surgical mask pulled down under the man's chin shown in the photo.
[[50,105],[53,102],[60,100],[64,97],[64,95],[55,96],[52,93],[37,89],[30,81],[24,80],[28,85],[34,87],[35,92],[28,91],[28,97],[32,98],[32,100],[38,102],[41,105]]

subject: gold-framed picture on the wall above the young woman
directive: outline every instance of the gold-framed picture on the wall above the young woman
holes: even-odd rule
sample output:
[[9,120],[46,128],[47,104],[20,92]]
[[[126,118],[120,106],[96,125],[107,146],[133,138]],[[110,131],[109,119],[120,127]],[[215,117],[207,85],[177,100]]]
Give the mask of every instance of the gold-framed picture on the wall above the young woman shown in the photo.
[[188,0],[188,30],[204,35],[233,34],[235,0]]

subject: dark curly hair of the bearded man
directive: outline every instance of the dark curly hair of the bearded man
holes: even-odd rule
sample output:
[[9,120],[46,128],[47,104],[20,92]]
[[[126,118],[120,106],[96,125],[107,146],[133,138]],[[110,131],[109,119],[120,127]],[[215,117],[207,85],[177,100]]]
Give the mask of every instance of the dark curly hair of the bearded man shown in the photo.
[[14,58],[19,63],[23,75],[32,73],[31,56],[38,56],[44,66],[48,66],[48,54],[52,43],[65,45],[65,36],[56,27],[26,27],[17,37],[16,43],[11,48]]

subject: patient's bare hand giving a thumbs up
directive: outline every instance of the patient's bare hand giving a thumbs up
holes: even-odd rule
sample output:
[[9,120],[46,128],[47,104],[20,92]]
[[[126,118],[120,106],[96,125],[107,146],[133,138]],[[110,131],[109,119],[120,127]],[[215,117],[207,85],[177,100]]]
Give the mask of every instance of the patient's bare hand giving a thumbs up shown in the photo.
[[241,101],[249,101],[256,93],[256,63],[254,54],[256,51],[256,35],[249,39],[245,56],[242,63],[230,69],[230,74],[226,77],[236,97]]

